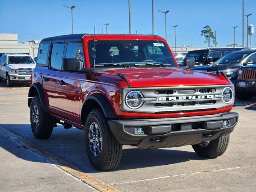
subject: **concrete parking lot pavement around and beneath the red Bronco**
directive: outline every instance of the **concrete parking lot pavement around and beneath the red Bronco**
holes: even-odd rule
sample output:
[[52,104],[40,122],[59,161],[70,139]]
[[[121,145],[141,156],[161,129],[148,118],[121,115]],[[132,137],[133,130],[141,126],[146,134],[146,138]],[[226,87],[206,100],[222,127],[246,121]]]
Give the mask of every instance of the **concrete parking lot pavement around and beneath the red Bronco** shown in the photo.
[[20,145],[14,136],[117,191],[256,191],[256,97],[236,102],[233,111],[239,113],[239,122],[227,151],[218,158],[201,158],[191,146],[156,150],[124,146],[118,168],[100,172],[86,157],[83,130],[58,126],[48,140],[34,138],[27,106],[28,88],[5,90],[0,84],[0,191],[97,190],[81,182],[79,176],[60,169],[58,161],[52,163]]

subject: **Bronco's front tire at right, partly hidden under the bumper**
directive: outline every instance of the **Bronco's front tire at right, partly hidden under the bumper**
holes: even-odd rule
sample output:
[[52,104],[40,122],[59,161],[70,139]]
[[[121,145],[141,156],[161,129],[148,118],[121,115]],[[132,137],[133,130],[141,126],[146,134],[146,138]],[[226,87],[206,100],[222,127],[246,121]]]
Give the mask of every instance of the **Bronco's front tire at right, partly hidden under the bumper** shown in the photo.
[[205,158],[216,158],[224,154],[228,148],[229,134],[218,137],[212,140],[206,146],[202,144],[192,145],[196,154]]

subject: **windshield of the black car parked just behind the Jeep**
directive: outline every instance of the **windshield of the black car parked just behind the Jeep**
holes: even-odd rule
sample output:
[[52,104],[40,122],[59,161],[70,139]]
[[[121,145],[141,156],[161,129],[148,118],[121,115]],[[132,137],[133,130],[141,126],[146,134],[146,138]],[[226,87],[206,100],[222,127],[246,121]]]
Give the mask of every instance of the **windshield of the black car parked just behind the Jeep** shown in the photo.
[[244,52],[232,52],[226,54],[224,57],[218,59],[214,64],[232,64],[239,63],[244,57],[246,57],[249,53]]

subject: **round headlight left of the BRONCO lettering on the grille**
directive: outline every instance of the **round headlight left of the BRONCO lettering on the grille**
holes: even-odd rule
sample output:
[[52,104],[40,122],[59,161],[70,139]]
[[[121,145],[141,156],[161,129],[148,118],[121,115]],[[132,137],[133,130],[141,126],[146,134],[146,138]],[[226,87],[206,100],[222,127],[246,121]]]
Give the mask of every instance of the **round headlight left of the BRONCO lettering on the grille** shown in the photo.
[[126,95],[125,102],[131,109],[138,109],[143,104],[143,95],[139,91],[131,91]]

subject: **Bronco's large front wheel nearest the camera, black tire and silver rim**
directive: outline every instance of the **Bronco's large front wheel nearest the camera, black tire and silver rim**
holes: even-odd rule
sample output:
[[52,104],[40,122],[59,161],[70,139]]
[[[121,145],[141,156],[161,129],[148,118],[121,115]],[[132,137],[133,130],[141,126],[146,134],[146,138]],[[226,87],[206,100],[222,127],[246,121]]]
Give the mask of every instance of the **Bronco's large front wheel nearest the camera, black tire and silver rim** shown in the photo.
[[[94,137],[92,136],[93,132],[95,133]],[[97,136],[98,138],[96,142],[95,139],[94,142],[90,142],[89,136],[91,140],[97,138]],[[118,166],[122,156],[122,144],[112,134],[101,109],[94,109],[88,115],[84,139],[88,159],[94,168],[98,170],[111,170]],[[97,142],[98,140],[99,142]],[[94,148],[95,144],[98,146]],[[94,150],[98,156],[94,155]]]

